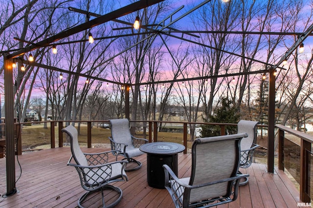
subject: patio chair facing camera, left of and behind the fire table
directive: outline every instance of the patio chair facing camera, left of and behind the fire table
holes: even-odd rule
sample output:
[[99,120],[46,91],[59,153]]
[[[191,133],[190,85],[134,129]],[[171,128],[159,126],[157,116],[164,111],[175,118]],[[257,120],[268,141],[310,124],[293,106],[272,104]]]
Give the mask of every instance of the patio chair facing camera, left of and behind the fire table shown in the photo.
[[127,159],[129,164],[125,168],[125,171],[133,171],[141,168],[141,162],[135,160],[133,157],[144,154],[144,152],[139,150],[142,144],[148,142],[147,139],[140,139],[134,137],[129,129],[129,120],[127,118],[123,119],[111,119],[110,128],[111,135],[109,137],[111,141],[111,150],[120,151],[118,154],[125,157],[123,160]]

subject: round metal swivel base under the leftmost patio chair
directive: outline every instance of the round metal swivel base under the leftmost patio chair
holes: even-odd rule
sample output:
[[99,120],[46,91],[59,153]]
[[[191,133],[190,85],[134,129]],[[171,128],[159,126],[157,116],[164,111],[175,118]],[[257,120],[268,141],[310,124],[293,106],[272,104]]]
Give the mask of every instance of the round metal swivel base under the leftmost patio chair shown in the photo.
[[[118,198],[112,202],[109,205],[105,205],[105,201],[104,201],[104,194],[103,194],[103,190],[106,189],[112,189],[114,191],[116,191],[117,193],[119,193]],[[85,199],[92,193],[97,192],[97,191],[101,191],[101,196],[102,196],[102,207],[103,208],[112,208],[114,206],[116,206],[121,200],[122,200],[122,196],[123,196],[123,191],[122,189],[118,188],[118,187],[114,187],[112,185],[106,185],[104,187],[102,187],[101,189],[97,189],[97,190],[93,190],[93,191],[88,191],[86,193],[84,193],[79,199],[78,199],[78,207],[80,208],[84,208],[81,204],[85,201]]]

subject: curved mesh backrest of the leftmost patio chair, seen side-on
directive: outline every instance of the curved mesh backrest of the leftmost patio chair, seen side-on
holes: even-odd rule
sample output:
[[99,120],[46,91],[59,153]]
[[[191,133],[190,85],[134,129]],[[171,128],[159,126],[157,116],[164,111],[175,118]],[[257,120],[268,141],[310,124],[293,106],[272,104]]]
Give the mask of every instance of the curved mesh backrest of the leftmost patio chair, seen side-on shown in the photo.
[[70,150],[77,165],[88,166],[87,159],[78,144],[78,132],[75,127],[69,125],[62,129],[70,137]]

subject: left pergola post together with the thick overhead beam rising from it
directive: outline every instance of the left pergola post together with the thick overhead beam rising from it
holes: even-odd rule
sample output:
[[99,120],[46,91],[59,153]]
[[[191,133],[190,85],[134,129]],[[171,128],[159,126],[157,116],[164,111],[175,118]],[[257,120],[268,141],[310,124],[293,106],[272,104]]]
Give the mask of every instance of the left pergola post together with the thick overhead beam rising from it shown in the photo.
[[92,19],[88,22],[70,28],[66,31],[58,33],[50,38],[46,38],[40,42],[33,45],[22,48],[12,54],[4,54],[4,90],[5,90],[5,145],[6,145],[6,182],[7,182],[7,193],[5,196],[10,196],[16,193],[16,182],[15,182],[15,149],[14,149],[14,95],[13,95],[13,58],[19,57],[27,52],[35,50],[41,47],[47,47],[50,43],[60,40],[62,38],[67,38],[71,35],[79,33],[81,31],[87,30],[91,27],[103,24],[112,19],[125,16],[137,10],[146,8],[153,4],[159,3],[163,0],[138,0],[132,4],[125,7],[112,11],[106,15],[100,16],[98,18]]

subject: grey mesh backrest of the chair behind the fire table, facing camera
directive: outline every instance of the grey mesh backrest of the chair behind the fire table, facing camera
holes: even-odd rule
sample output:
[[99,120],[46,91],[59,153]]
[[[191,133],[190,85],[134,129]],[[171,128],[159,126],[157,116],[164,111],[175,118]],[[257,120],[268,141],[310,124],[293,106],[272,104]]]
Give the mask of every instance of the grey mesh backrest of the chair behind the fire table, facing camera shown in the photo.
[[129,147],[133,146],[132,135],[129,129],[129,120],[127,118],[111,119],[111,134],[112,139],[117,143],[123,143]]

